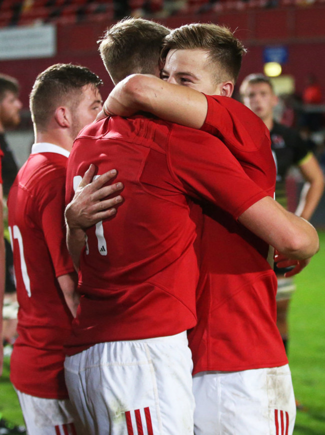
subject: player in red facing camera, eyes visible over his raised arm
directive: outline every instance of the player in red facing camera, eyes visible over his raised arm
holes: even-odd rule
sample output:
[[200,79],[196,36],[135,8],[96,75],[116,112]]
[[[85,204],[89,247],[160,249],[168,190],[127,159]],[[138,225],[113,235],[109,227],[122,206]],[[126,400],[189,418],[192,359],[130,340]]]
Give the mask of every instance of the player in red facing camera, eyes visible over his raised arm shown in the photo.
[[[165,38],[162,57],[166,56],[166,61],[161,77],[186,89],[162,84],[155,77],[135,75],[116,86],[104,109],[124,116],[137,110],[149,111],[221,136],[245,172],[272,194],[273,161],[267,130],[240,103],[227,98],[231,96],[242,54],[241,44],[225,28],[183,26]],[[188,88],[221,97],[209,97]],[[218,240],[217,245],[211,242],[214,240]],[[292,384],[275,327],[276,283],[269,264],[263,262],[266,251],[264,248],[263,253],[259,243],[240,226],[229,223],[219,211],[212,214],[208,208],[204,213],[198,324],[188,334],[197,399],[195,433],[214,433],[215,427],[221,432],[239,428],[243,431],[246,427],[249,433],[254,424],[257,430],[261,415],[265,415],[265,433],[267,427],[272,430],[281,420],[289,433],[293,430]],[[246,257],[254,263],[245,262]],[[300,270],[301,264],[290,274]],[[269,305],[265,306],[265,300]],[[281,386],[281,390],[277,386],[273,391],[272,398],[266,388],[269,373],[277,377]],[[217,386],[220,378],[222,388]],[[232,419],[231,400],[239,390],[245,393],[241,406],[250,412],[243,414],[237,407],[236,418]],[[206,403],[207,396],[215,401]],[[254,406],[249,406],[252,397]]]

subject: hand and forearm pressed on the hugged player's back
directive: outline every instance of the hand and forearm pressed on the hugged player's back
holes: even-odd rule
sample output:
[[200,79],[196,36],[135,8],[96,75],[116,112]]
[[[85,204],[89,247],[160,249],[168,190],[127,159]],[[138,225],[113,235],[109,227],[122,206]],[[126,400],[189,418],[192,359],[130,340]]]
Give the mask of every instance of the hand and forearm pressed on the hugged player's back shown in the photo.
[[80,255],[85,245],[85,230],[113,216],[116,213],[116,205],[123,200],[120,195],[107,199],[109,195],[123,188],[121,182],[105,186],[116,175],[115,169],[91,181],[94,173],[95,166],[91,164],[64,213],[66,245],[76,270],[79,268]]

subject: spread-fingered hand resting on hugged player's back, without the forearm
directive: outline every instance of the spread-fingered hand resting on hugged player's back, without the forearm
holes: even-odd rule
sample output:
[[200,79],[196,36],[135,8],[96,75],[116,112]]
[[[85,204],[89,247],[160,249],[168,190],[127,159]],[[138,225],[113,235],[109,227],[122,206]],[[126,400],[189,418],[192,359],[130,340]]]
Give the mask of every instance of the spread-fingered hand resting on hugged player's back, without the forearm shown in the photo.
[[72,201],[65,208],[65,221],[70,229],[85,230],[116,213],[116,205],[123,200],[118,195],[107,198],[123,188],[121,182],[105,184],[117,174],[112,169],[91,181],[95,173],[95,166],[91,164],[78,185]]

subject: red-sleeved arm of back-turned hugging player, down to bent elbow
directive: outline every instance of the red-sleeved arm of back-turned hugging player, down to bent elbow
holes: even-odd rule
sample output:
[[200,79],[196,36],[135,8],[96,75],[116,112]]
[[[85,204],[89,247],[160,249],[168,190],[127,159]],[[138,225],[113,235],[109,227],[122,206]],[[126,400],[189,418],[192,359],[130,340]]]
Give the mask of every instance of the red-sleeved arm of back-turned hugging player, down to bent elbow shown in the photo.
[[303,260],[318,251],[315,229],[267,196],[217,138],[172,126],[168,165],[186,192],[221,207],[289,259]]

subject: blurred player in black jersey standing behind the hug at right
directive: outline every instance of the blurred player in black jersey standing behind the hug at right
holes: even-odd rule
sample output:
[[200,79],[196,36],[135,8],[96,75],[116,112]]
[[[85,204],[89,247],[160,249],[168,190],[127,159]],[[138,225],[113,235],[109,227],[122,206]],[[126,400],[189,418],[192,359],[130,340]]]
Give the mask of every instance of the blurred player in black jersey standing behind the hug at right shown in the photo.
[[[323,174],[316,158],[309,150],[308,144],[295,130],[274,121],[273,109],[277,104],[277,97],[268,77],[262,74],[250,74],[243,80],[239,92],[244,104],[262,119],[270,131],[271,147],[277,169],[275,199],[286,207],[285,178],[289,168],[292,165],[297,166],[307,183],[302,189],[295,213],[309,221],[324,188]],[[295,286],[292,278],[285,278],[285,272],[285,269],[275,268],[278,282],[277,327],[287,350],[287,312]]]

